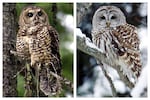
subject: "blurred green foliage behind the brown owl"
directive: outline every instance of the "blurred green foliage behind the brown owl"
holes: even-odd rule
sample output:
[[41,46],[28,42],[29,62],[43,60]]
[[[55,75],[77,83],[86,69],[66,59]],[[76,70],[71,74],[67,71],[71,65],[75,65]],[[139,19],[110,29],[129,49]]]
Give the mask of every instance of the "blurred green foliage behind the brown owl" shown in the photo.
[[[54,24],[52,12],[52,3],[17,3],[17,20],[22,9],[28,5],[36,5],[45,10],[48,14],[50,24],[55,27],[59,33],[60,39],[60,54],[62,60],[62,75],[67,79],[73,81],[73,50],[69,49],[69,45],[73,42],[73,32],[69,32],[66,27],[61,25],[61,20],[56,19],[56,24]],[[56,3],[57,13],[62,12],[63,14],[73,15],[73,4],[72,3]],[[68,46],[66,46],[68,44]],[[18,76],[18,96],[23,96],[24,93],[24,80],[22,76]],[[67,91],[67,90],[64,90]]]

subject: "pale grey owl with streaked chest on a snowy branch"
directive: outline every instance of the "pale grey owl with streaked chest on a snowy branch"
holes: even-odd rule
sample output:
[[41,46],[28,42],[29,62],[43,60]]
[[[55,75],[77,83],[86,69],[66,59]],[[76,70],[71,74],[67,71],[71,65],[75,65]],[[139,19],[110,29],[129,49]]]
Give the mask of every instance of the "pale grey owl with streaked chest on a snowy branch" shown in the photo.
[[93,43],[110,63],[120,65],[123,75],[136,83],[142,68],[137,28],[128,24],[115,6],[101,6],[93,16],[92,27]]

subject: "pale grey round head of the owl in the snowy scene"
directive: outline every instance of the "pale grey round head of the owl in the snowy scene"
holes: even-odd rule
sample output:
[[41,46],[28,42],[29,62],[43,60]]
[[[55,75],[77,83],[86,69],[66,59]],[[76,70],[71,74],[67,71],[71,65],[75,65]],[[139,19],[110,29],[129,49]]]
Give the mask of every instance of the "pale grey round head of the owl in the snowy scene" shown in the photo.
[[104,28],[115,28],[119,25],[126,24],[123,12],[115,6],[102,6],[93,16],[93,30]]

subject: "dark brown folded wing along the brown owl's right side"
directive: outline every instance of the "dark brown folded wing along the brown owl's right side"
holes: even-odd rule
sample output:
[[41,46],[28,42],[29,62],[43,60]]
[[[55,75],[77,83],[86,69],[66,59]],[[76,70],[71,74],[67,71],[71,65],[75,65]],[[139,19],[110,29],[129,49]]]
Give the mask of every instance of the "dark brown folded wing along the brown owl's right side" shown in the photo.
[[54,57],[54,66],[58,67],[56,70],[57,70],[57,74],[60,75],[60,73],[61,73],[61,59],[60,59],[60,53],[59,53],[58,32],[52,26],[49,26],[48,30],[49,30],[49,35],[51,38],[50,48],[51,48],[51,53],[53,54],[53,57]]

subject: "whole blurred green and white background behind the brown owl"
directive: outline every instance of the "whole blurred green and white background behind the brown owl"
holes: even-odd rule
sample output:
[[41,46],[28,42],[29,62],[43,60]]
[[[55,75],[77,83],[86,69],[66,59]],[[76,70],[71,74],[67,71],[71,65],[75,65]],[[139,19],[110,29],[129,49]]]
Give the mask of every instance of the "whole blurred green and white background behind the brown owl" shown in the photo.
[[[3,5],[5,5],[5,3]],[[58,31],[60,40],[60,55],[62,60],[62,76],[73,82],[73,4],[16,3],[16,21],[18,21],[22,9],[28,5],[36,5],[43,8],[48,14],[50,25]],[[3,11],[5,11],[5,9],[3,9]],[[18,25],[16,31],[18,31]],[[18,96],[24,95],[24,77],[21,75],[18,75],[17,77],[17,91]],[[72,95],[72,91],[67,90],[67,88],[63,88],[61,96]]]

